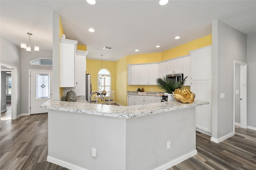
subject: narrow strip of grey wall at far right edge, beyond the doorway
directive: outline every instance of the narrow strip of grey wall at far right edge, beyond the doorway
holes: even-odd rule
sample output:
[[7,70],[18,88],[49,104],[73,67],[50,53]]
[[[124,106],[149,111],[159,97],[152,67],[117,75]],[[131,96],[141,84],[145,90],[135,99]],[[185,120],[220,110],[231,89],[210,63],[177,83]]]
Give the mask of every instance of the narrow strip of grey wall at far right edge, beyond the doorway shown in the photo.
[[256,33],[247,35],[247,63],[248,63],[248,96],[247,118],[248,126],[256,130]]

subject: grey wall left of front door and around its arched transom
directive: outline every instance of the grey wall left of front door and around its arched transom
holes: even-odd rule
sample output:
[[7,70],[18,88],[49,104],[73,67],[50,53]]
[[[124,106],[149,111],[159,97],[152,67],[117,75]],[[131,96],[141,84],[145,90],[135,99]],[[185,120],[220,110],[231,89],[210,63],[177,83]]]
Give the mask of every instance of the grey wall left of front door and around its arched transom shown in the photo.
[[29,61],[36,58],[52,58],[52,51],[39,51],[38,53],[27,53],[26,51],[21,51],[21,95],[22,101],[21,106],[22,114],[28,113],[29,101],[28,101],[28,89],[29,85],[29,69],[37,69],[37,70],[52,70],[52,66],[41,66],[41,65],[30,65]]

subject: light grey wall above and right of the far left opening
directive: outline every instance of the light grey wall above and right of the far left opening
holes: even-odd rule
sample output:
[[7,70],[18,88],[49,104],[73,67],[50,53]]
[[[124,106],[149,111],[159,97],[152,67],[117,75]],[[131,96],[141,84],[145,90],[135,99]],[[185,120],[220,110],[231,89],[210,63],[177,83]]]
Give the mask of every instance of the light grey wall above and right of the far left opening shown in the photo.
[[0,56],[1,63],[10,65],[17,68],[17,89],[16,89],[16,100],[17,100],[17,116],[21,114],[21,49],[17,45],[6,40],[4,37],[0,37]]

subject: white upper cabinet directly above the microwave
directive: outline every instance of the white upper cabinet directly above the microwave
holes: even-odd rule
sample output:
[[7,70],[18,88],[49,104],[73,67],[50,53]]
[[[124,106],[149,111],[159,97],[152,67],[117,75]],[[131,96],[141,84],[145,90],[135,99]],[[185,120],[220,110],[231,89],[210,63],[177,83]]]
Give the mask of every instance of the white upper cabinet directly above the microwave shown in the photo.
[[183,58],[167,61],[167,74],[183,73]]

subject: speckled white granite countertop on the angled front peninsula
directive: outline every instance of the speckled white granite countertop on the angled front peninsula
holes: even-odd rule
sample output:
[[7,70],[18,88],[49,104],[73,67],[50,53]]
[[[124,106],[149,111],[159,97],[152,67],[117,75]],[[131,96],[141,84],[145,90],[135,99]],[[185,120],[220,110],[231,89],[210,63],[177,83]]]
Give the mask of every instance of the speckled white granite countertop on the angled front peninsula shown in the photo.
[[196,107],[200,105],[208,105],[207,101],[194,101],[193,103],[181,103],[178,101],[150,103],[145,105],[134,106],[115,106],[88,103],[87,101],[67,102],[59,100],[48,100],[40,107],[43,109],[68,111],[76,113],[85,113],[91,115],[102,115],[108,117],[120,117],[130,119],[167,111]]

